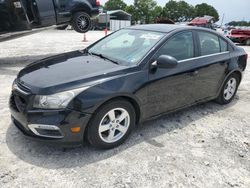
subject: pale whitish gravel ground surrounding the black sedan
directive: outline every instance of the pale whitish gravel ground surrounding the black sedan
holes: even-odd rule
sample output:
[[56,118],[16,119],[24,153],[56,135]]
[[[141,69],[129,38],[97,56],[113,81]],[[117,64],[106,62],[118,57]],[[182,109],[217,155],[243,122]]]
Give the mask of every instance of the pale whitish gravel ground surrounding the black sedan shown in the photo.
[[249,66],[230,105],[209,102],[143,123],[113,150],[45,146],[11,124],[11,83],[25,64],[103,35],[90,32],[83,43],[73,31],[49,30],[0,43],[0,187],[249,188]]

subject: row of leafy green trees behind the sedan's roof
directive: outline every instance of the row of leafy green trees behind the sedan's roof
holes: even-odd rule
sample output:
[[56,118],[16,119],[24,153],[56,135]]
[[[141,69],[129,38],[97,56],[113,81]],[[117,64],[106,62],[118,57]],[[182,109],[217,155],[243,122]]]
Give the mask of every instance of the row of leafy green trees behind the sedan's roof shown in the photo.
[[175,22],[191,21],[195,17],[205,15],[213,16],[219,20],[217,10],[207,3],[195,6],[185,1],[168,1],[165,6],[157,5],[154,0],[134,0],[132,5],[127,5],[123,0],[109,0],[105,3],[105,10],[124,10],[132,15],[132,22],[154,23],[156,18],[168,18]]

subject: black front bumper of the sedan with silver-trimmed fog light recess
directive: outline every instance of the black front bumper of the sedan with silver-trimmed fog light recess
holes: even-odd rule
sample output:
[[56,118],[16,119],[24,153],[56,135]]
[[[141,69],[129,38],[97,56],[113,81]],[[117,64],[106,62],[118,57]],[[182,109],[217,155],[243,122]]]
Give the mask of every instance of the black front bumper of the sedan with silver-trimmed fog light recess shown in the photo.
[[[64,110],[19,111],[15,108],[13,96],[10,98],[11,119],[14,125],[29,138],[62,146],[81,145],[90,114]],[[80,127],[73,133],[71,128]]]

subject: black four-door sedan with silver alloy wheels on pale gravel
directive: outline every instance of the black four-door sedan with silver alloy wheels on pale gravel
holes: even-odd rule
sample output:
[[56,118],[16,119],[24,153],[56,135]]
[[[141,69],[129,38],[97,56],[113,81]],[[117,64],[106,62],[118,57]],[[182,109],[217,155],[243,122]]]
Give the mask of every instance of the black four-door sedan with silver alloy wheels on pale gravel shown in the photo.
[[246,52],[215,31],[134,26],[21,70],[11,116],[36,140],[113,148],[147,119],[210,100],[230,103],[246,64]]

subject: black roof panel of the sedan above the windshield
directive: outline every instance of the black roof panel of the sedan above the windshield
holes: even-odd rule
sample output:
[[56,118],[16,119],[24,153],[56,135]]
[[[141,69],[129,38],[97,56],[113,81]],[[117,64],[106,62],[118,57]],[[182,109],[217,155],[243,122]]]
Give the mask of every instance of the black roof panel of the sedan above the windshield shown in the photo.
[[195,28],[196,27],[175,25],[175,24],[147,24],[147,25],[135,25],[135,26],[129,27],[129,29],[138,29],[138,30],[162,32],[162,33],[169,33],[176,29],[185,30],[185,29],[195,29]]

